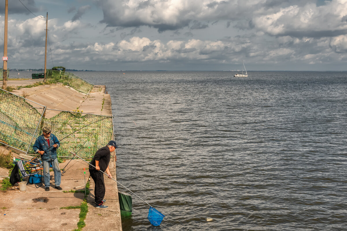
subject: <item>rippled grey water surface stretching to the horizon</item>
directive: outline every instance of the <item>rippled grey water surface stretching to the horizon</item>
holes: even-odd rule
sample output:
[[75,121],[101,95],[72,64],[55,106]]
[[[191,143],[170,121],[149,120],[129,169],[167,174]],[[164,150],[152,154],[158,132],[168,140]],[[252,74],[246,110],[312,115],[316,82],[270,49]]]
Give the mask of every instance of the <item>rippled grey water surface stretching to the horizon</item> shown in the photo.
[[74,73],[111,94],[117,180],[166,215],[133,195],[124,231],[346,230],[347,72]]

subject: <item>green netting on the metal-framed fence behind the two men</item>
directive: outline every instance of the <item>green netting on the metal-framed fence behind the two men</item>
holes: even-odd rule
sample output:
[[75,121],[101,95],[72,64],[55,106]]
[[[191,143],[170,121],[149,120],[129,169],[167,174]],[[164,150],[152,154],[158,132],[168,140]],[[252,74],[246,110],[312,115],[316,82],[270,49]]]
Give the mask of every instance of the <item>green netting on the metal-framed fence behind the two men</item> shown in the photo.
[[79,156],[89,158],[113,140],[110,116],[62,111],[40,121],[42,113],[41,105],[0,89],[0,142],[26,152],[34,137],[28,154],[36,154],[32,146],[42,134],[42,127],[48,125],[60,141],[58,156],[72,156],[70,151],[79,150]]

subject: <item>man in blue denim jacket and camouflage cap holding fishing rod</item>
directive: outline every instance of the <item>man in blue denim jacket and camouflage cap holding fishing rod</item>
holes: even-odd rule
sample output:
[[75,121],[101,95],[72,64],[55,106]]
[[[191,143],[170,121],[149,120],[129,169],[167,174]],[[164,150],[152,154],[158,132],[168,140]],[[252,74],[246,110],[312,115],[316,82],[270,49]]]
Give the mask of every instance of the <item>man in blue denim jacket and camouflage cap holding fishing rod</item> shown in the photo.
[[61,180],[61,172],[59,168],[59,162],[57,158],[57,148],[59,148],[59,140],[53,134],[51,134],[51,128],[45,126],[42,128],[43,134],[37,137],[33,149],[36,153],[41,155],[42,163],[43,163],[43,179],[45,190],[49,191],[50,186],[50,174],[49,174],[49,166],[52,164],[52,168],[54,171],[54,180],[56,189],[61,190],[60,180]]

